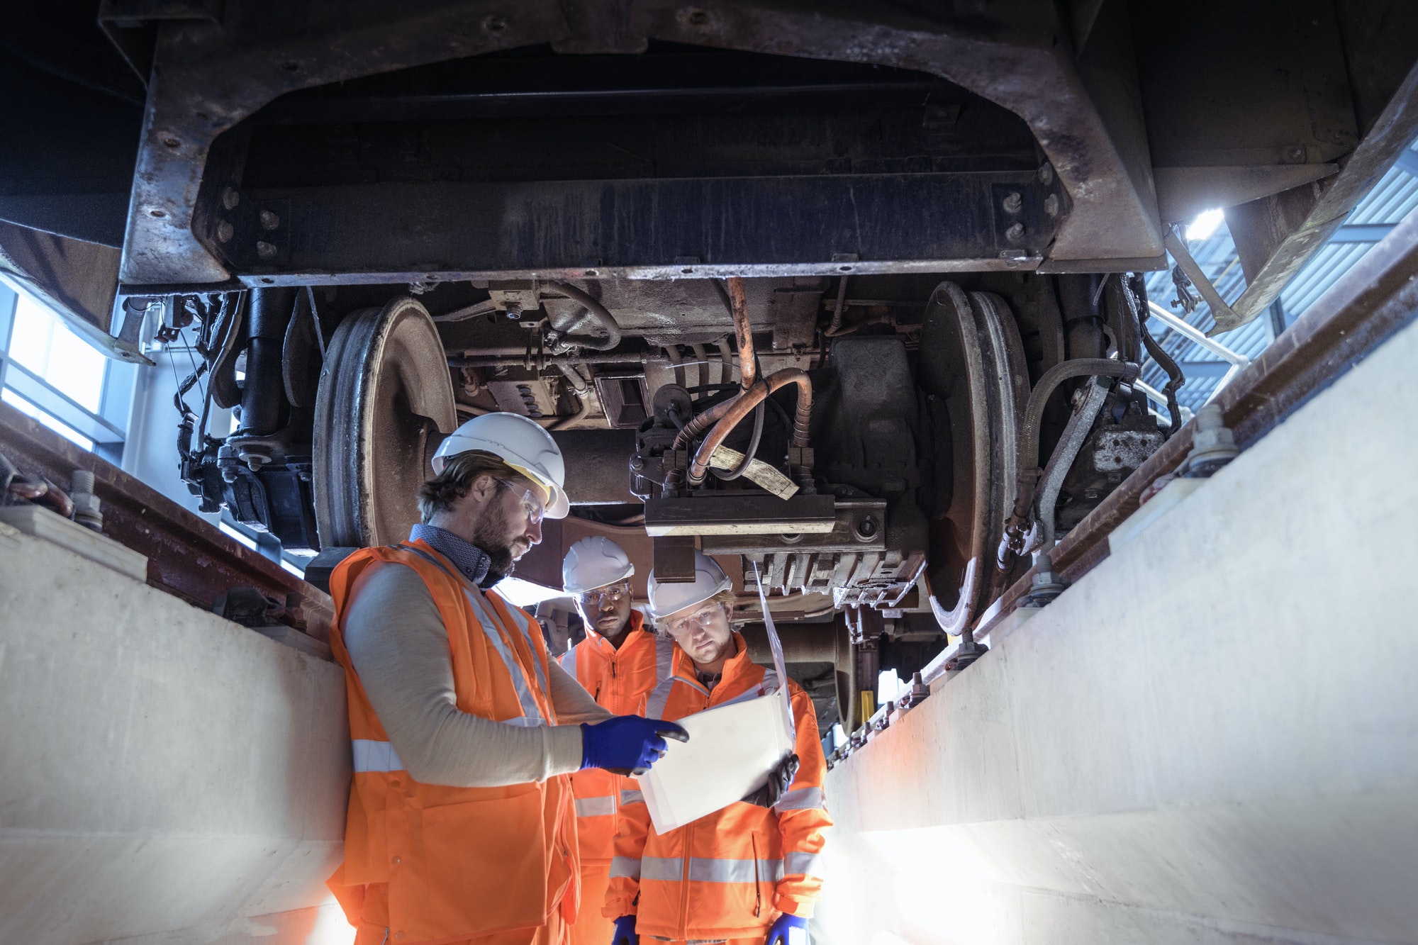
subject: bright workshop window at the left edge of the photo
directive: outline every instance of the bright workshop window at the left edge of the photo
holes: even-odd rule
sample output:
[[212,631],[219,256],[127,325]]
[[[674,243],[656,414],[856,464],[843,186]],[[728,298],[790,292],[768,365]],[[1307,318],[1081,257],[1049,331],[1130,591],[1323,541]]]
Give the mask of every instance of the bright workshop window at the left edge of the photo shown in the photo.
[[0,400],[118,463],[135,370],[69,331],[54,311],[0,282]]

